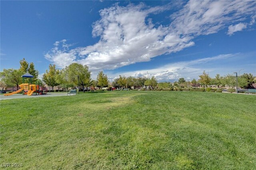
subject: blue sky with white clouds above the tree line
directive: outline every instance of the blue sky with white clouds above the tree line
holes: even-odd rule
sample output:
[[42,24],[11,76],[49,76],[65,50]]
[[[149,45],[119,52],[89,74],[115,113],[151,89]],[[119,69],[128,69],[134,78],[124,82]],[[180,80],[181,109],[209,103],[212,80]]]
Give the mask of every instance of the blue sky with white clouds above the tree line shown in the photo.
[[24,57],[158,81],[256,75],[256,1],[1,1],[0,69]]

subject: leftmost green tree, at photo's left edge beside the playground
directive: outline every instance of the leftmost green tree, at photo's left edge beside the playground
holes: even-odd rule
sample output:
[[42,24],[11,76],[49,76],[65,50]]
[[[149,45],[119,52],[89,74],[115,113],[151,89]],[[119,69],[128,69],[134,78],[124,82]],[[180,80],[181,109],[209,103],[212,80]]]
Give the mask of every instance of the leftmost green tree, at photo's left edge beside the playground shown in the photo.
[[0,72],[1,81],[3,81],[8,87],[11,87],[13,84],[18,85],[22,83],[23,72],[20,69],[4,69]]

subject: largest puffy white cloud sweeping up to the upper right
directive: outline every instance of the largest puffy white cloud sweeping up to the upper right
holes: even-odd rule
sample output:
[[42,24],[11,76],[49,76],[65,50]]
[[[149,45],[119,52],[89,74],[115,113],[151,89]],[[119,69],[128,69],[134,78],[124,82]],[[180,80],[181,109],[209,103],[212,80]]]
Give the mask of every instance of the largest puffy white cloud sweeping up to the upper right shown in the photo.
[[93,24],[92,36],[100,36],[99,42],[69,49],[66,40],[58,41],[45,58],[57,67],[78,62],[92,71],[150,61],[191,47],[196,36],[216,33],[245,20],[255,14],[255,6],[256,1],[190,1],[170,16],[168,25],[156,26],[149,14],[170,10],[172,4],[152,8],[142,3],[126,7],[115,4],[100,10],[101,18]]

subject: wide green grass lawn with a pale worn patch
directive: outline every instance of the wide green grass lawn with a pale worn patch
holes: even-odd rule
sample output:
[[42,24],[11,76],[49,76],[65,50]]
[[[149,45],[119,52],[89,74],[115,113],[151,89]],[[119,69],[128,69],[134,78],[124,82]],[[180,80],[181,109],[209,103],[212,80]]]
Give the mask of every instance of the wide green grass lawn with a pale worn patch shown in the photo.
[[256,96],[114,91],[1,101],[21,169],[256,169]]

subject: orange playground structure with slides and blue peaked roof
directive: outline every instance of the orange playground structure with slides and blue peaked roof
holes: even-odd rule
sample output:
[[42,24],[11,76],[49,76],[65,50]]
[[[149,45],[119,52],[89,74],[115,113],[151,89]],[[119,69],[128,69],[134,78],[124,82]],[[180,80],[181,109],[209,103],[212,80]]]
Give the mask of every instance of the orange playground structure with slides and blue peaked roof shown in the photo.
[[[38,95],[47,94],[47,88],[39,87],[39,84],[38,85],[32,84],[32,78],[34,77],[33,75],[26,73],[21,77],[22,77],[22,84],[19,85],[20,89],[12,93],[4,94],[4,96],[14,95],[14,94],[20,93],[21,91],[22,91],[22,95],[28,95],[28,96],[31,96],[34,92],[36,92],[36,95],[37,93]],[[30,78],[29,83],[24,83],[24,78]]]

